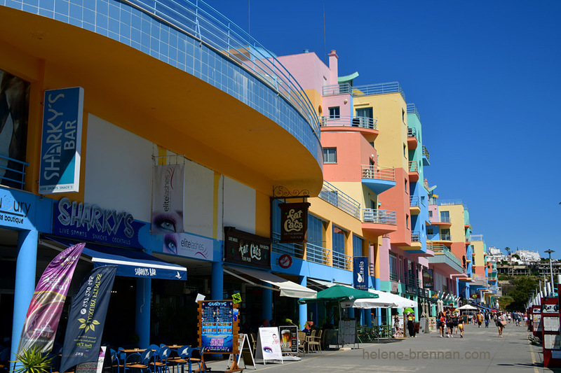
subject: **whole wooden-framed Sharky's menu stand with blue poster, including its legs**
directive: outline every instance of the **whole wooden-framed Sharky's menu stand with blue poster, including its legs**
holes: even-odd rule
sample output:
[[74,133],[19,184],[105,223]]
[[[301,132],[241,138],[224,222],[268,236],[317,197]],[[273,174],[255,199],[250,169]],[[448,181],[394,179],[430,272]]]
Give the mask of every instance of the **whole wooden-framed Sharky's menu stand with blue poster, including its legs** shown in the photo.
[[238,332],[238,304],[232,300],[198,302],[198,345],[205,348],[201,356],[203,363],[205,355],[234,355],[229,369],[224,372],[243,372],[238,366],[238,353],[243,350],[243,346],[241,349],[239,346]]

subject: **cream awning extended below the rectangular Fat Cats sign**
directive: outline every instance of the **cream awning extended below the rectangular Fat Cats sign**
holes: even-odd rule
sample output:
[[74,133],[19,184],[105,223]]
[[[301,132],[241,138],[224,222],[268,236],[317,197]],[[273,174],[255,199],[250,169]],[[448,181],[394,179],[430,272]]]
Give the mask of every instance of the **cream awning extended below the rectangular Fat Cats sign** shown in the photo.
[[245,274],[246,276],[250,276],[258,281],[269,283],[271,284],[271,286],[274,287],[273,290],[280,290],[280,295],[284,297],[315,298],[316,294],[318,294],[316,290],[311,290],[309,288],[306,288],[305,286],[299,285],[292,281],[285,280],[282,277],[276,276],[269,272],[256,271],[255,269],[247,269],[241,267],[224,267],[224,272],[226,272],[227,274],[231,274],[232,276],[235,276],[238,279],[241,279],[254,286],[262,286],[262,285],[259,283],[254,283],[248,279],[245,279],[245,277],[240,276],[235,272],[238,272],[240,274]]

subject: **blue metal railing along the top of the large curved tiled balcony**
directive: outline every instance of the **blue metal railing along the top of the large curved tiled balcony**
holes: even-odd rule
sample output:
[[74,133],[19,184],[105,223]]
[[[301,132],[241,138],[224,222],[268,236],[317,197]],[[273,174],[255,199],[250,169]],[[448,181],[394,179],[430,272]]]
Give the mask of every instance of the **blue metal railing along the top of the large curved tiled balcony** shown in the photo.
[[296,78],[272,52],[215,8],[202,0],[160,0],[151,1],[150,5],[142,0],[123,1],[209,45],[255,74],[306,118],[319,139],[319,120],[315,108]]

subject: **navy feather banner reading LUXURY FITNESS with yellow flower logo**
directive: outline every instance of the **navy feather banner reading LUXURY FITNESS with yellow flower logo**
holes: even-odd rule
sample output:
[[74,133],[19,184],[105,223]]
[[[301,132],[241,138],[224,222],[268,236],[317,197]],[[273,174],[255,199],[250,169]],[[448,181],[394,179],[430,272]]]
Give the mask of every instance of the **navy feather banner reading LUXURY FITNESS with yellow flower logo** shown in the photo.
[[74,365],[95,362],[99,358],[105,316],[116,272],[116,265],[93,269],[74,295],[65,344],[62,346],[60,372],[64,373]]

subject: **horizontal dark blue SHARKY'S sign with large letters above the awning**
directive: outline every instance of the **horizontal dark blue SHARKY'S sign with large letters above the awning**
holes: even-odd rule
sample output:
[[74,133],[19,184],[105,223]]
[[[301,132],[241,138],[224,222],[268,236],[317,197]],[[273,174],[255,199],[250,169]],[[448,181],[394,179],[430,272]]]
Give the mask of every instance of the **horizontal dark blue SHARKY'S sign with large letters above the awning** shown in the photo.
[[54,209],[53,234],[118,246],[143,248],[138,238],[146,223],[126,211],[60,199]]

